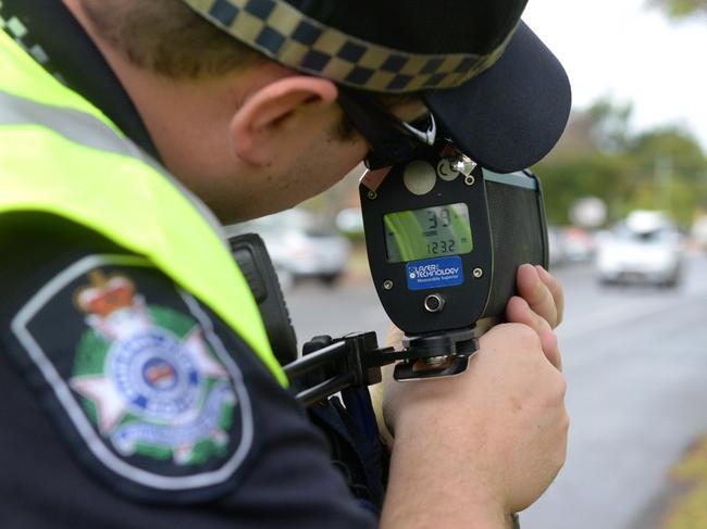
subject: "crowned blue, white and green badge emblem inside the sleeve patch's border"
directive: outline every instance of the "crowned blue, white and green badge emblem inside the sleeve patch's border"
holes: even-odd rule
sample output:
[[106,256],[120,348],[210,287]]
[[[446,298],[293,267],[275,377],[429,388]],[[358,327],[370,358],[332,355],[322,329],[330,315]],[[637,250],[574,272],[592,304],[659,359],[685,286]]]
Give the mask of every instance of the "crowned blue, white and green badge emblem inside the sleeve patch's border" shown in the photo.
[[89,274],[74,295],[87,314],[70,386],[122,454],[202,463],[227,442],[236,395],[199,324],[149,306],[126,276]]

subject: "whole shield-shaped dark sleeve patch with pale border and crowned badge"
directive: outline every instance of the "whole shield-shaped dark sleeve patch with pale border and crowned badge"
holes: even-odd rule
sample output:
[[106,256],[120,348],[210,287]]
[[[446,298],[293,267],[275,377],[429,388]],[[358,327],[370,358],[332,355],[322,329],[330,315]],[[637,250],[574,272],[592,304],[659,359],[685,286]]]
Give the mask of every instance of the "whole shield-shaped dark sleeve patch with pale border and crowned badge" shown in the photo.
[[[53,336],[73,337],[63,343],[48,332],[59,323]],[[237,364],[198,302],[146,261],[86,257],[12,327],[64,411],[60,426],[121,478],[208,488],[247,455],[252,416]]]

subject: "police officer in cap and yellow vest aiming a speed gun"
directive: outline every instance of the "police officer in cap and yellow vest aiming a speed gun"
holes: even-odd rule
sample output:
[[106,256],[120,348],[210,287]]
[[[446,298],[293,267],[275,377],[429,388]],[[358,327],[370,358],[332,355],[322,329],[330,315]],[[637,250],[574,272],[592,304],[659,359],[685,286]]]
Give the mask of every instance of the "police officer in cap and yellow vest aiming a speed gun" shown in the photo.
[[[569,86],[524,3],[1,0],[0,526],[373,527],[219,226],[399,161],[431,113],[536,162]],[[561,289],[518,279],[464,375],[390,388],[382,526],[508,527],[562,465]]]

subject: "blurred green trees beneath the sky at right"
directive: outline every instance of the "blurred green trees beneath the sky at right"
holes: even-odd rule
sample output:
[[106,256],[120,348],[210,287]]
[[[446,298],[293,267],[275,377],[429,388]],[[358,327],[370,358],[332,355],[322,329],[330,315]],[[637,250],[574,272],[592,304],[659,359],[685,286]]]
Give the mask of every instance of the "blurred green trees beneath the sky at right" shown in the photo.
[[707,158],[678,127],[632,133],[631,106],[599,100],[576,110],[553,153],[533,167],[553,224],[569,224],[578,197],[603,199],[607,222],[636,209],[665,210],[681,225],[707,210]]

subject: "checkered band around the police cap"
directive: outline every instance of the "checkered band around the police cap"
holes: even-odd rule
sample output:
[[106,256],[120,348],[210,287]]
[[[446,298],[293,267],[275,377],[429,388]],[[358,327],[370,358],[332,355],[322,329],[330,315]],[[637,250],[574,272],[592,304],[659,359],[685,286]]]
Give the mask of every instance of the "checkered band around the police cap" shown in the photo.
[[488,54],[409,53],[347,35],[283,0],[184,0],[224,32],[300,72],[365,90],[404,93],[459,86],[494,64]]

